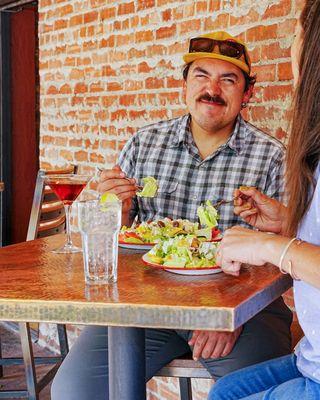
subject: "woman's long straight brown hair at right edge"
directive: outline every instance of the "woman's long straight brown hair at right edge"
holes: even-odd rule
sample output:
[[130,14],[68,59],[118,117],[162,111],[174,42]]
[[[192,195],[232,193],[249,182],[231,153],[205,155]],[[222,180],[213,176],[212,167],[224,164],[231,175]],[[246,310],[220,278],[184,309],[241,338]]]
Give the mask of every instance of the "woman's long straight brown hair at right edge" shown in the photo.
[[289,195],[286,233],[294,236],[314,191],[320,160],[320,0],[306,0],[300,17],[303,41],[287,151]]

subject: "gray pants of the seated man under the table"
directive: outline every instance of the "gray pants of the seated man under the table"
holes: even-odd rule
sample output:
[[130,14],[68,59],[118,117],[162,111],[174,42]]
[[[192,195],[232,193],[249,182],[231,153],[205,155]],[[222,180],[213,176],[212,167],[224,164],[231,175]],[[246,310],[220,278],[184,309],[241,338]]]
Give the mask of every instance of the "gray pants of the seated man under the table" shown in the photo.
[[[215,379],[229,372],[291,351],[292,315],[282,298],[248,321],[232,352],[216,359],[200,359]],[[172,359],[190,352],[191,331],[146,329],[146,380]],[[86,327],[71,348],[57,375],[52,400],[107,400],[108,328]]]

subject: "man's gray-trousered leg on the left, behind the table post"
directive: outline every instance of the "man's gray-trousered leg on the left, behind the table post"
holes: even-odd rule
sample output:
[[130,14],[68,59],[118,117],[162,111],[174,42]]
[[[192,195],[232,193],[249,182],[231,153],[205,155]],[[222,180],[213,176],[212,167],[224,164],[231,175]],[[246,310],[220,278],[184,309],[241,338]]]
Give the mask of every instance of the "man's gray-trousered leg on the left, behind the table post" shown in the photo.
[[[59,368],[52,400],[107,400],[108,328],[86,327]],[[146,329],[146,380],[173,358],[190,351],[171,330]]]

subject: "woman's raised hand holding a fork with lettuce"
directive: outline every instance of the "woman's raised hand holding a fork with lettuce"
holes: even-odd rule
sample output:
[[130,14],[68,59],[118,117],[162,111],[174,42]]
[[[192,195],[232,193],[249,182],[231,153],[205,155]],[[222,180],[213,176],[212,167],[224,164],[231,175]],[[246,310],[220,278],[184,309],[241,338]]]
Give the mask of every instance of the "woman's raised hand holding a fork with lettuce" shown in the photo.
[[234,196],[238,197],[234,201],[234,213],[247,224],[264,232],[283,231],[287,218],[283,204],[252,187],[236,189]]

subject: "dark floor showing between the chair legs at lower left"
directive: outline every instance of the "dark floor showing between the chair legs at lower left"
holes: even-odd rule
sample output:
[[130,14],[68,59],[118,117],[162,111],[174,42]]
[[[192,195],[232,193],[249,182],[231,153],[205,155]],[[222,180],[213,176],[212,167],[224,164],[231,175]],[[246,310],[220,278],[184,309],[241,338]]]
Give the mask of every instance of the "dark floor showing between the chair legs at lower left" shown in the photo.
[[[0,337],[3,357],[20,357],[21,344],[19,335],[5,328],[0,322]],[[44,351],[37,344],[33,346],[36,356],[52,355],[49,351]],[[43,376],[50,366],[40,365],[37,367],[37,377]],[[25,389],[24,367],[21,365],[13,365],[4,367],[4,376],[0,378],[0,390],[16,390]],[[13,398],[12,398],[13,399]],[[40,392],[40,400],[50,400],[50,385],[46,386]]]

